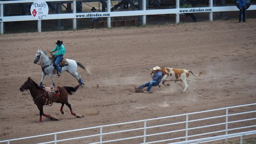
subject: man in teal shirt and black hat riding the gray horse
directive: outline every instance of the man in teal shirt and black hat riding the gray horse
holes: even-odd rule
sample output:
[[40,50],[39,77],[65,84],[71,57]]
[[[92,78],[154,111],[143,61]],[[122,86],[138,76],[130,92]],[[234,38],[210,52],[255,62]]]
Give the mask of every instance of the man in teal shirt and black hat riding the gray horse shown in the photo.
[[57,71],[59,72],[58,76],[60,76],[61,66],[59,65],[59,62],[63,59],[63,56],[65,55],[65,52],[66,52],[63,42],[60,40],[57,41],[56,47],[50,52],[55,52],[57,50],[58,52],[54,53],[53,56],[56,58],[54,64],[56,65]]

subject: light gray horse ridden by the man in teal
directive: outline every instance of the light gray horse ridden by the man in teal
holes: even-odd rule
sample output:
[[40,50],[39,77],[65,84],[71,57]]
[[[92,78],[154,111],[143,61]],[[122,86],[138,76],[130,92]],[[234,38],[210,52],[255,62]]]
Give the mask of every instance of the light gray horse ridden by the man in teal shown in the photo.
[[[84,85],[80,73],[77,73],[77,66],[80,66],[82,69],[84,69],[87,73],[91,74],[89,68],[86,68],[85,66],[83,66],[80,62],[75,61],[75,60],[70,60],[70,59],[66,59],[68,62],[67,66],[64,66],[61,68],[62,72],[69,72],[71,75],[73,75],[73,77],[75,77],[77,79],[77,81],[79,82],[80,85]],[[35,56],[35,60],[34,63],[36,64],[38,61],[41,61],[41,67],[42,67],[42,78],[40,80],[40,84],[39,86],[41,87],[43,84],[43,80],[45,78],[46,75],[50,76],[52,85],[55,86],[54,84],[54,80],[53,80],[53,70],[54,70],[54,63],[52,58],[49,58],[48,55],[46,54],[46,52],[44,50],[38,49],[36,56]]]

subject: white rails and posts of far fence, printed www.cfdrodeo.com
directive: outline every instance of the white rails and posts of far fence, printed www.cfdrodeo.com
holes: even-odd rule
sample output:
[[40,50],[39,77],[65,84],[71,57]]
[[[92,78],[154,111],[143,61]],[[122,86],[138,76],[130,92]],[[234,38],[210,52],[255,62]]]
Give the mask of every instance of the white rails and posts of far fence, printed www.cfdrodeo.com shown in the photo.
[[[4,16],[3,14],[3,5],[4,4],[13,4],[13,3],[27,3],[34,2],[35,0],[12,0],[12,1],[0,1],[0,34],[4,33],[3,23],[4,22],[15,22],[15,21],[35,21],[32,15],[21,15],[21,16]],[[77,13],[76,11],[76,0],[45,0],[49,1],[73,1],[73,13],[59,13],[59,14],[48,14],[44,20],[55,20],[55,19],[73,19],[73,29],[76,29],[76,19],[79,18],[91,18],[98,17],[92,16],[92,14],[98,14],[100,17],[109,17],[108,27],[111,27],[110,17],[116,16],[142,16],[142,24],[146,25],[146,15],[152,14],[176,14],[176,23],[180,23],[180,14],[181,13],[196,13],[196,12],[208,12],[209,20],[213,20],[213,12],[230,12],[230,11],[239,11],[236,6],[221,6],[214,7],[213,0],[209,0],[208,7],[200,8],[180,8],[180,0],[176,0],[176,9],[164,9],[164,10],[146,10],[146,0],[142,0],[142,10],[140,11],[123,11],[123,12],[110,12],[110,0],[107,0],[107,12],[82,12]],[[81,0],[80,0],[81,1]],[[187,10],[187,12],[185,12]],[[191,10],[191,11],[189,11]],[[248,9],[256,10],[256,5],[251,5]],[[41,20],[37,21],[37,31],[41,32]]]

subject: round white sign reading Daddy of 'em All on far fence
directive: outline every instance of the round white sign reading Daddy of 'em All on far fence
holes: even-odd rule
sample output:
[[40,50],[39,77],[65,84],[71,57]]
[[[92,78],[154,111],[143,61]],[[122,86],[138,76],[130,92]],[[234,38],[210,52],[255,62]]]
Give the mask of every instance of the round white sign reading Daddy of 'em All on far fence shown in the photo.
[[36,0],[30,8],[30,13],[36,20],[44,19],[49,12],[49,7],[44,0]]

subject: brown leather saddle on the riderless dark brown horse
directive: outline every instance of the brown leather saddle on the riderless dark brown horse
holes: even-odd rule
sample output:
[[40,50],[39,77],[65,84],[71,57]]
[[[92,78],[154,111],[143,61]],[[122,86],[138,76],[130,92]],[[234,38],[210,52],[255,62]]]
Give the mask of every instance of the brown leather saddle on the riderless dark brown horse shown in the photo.
[[56,102],[60,99],[60,91],[57,87],[43,87],[44,94],[43,97],[45,99],[45,105],[52,106],[53,102]]

